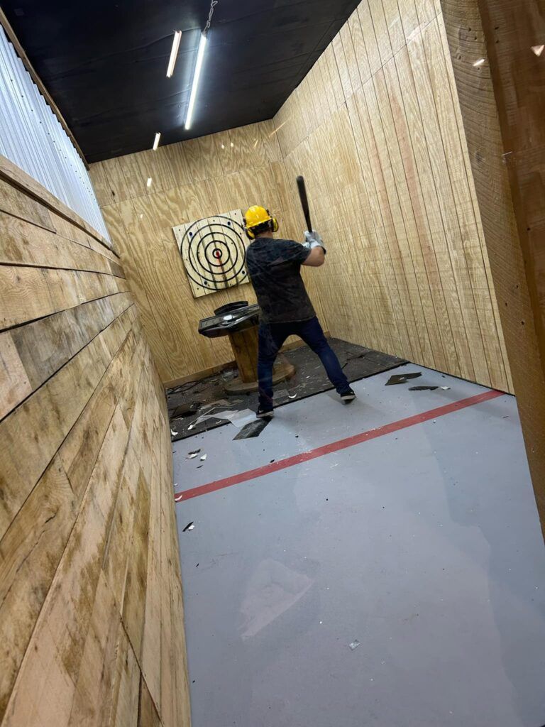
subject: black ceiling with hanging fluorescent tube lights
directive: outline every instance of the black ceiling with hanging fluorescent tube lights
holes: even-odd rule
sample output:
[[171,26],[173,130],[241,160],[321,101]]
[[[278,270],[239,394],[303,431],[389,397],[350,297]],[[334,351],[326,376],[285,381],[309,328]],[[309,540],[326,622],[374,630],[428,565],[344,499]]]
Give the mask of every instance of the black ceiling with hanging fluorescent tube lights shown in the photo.
[[[270,119],[359,0],[219,0],[185,111],[209,0],[2,0],[89,162]],[[172,35],[183,31],[171,79]],[[312,112],[310,112],[312,113]]]

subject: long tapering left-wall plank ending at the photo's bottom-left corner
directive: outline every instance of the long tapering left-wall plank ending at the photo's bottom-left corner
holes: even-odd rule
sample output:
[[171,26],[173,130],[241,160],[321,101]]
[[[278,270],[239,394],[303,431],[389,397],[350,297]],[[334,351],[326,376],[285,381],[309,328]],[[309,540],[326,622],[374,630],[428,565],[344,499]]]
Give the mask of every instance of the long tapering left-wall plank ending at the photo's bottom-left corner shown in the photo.
[[[108,488],[105,484],[118,481],[123,465],[121,443],[126,437],[121,413],[114,414],[17,675],[4,718],[8,726],[32,724],[39,715],[45,725],[52,725],[55,720],[57,724],[68,722],[108,536],[110,510],[117,493],[117,487]],[[41,654],[40,660],[33,658],[33,652],[50,639],[55,646]],[[55,695],[55,699],[41,701],[39,695],[44,693]],[[29,698],[31,694],[35,696]]]

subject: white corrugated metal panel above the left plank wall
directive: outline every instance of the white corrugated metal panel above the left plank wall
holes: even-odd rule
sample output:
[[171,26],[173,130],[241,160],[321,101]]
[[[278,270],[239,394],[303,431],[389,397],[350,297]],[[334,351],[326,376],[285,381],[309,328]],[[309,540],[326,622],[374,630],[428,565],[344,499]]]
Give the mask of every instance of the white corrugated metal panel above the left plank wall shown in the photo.
[[0,28],[0,153],[108,240],[83,161]]

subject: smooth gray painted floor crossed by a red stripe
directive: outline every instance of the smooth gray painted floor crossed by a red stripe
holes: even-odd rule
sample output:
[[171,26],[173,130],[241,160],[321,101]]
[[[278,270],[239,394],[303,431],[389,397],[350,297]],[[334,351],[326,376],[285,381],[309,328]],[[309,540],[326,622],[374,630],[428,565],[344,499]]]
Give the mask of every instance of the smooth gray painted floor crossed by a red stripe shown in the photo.
[[[177,491],[483,391],[404,370],[451,389],[379,374],[259,438],[174,443]],[[176,507],[193,727],[545,723],[545,548],[513,398]]]

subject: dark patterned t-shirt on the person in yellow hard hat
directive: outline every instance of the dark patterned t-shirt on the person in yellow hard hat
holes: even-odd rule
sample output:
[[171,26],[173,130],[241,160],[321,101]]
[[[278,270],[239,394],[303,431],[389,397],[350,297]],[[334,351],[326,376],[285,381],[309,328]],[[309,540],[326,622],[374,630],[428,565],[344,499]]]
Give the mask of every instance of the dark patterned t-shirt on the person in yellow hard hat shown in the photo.
[[258,237],[246,249],[246,268],[265,323],[308,321],[316,315],[301,277],[310,249],[293,240]]

